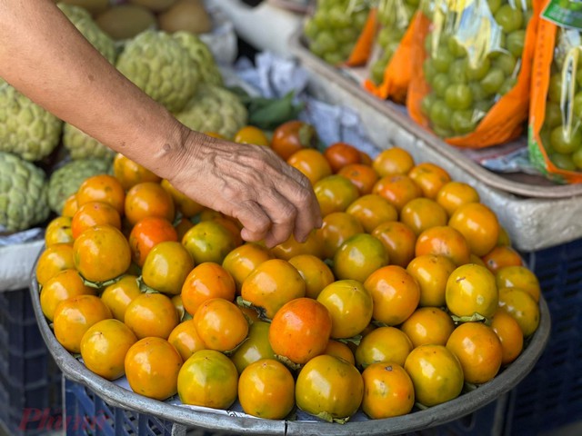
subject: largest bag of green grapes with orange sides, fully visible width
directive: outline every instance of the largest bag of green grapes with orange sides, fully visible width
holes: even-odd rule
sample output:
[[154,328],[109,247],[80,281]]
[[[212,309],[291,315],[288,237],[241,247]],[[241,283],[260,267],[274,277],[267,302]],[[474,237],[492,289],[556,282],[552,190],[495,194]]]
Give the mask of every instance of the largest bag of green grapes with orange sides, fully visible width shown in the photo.
[[459,147],[482,148],[519,136],[527,120],[542,1],[423,4],[415,18],[408,89],[412,118]]

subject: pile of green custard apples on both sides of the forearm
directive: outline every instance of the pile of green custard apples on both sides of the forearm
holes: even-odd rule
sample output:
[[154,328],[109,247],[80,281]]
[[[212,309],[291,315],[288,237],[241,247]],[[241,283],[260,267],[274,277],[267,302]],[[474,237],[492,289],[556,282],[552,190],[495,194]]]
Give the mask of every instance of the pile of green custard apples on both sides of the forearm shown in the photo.
[[[226,138],[246,124],[245,105],[223,86],[213,54],[197,35],[148,28],[117,45],[89,13],[102,3],[57,5],[111,64],[182,123]],[[178,7],[187,2],[134,3]],[[110,171],[114,155],[0,79],[0,232],[41,225],[50,210],[60,213],[86,177]]]

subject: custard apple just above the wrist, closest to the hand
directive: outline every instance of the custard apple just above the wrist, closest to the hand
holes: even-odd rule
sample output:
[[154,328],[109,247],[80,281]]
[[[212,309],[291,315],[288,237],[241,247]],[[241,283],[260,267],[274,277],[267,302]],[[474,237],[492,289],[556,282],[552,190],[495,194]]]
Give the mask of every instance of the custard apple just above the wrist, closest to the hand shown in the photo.
[[232,138],[246,125],[248,113],[236,94],[214,84],[199,84],[196,94],[176,118],[192,130]]

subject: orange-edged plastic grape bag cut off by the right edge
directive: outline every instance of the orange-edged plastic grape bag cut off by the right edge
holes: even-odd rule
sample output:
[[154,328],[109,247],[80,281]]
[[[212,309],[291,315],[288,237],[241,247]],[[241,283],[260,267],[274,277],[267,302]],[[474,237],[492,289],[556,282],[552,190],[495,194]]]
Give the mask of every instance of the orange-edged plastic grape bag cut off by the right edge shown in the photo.
[[529,114],[531,163],[559,183],[582,183],[582,33],[541,20]]

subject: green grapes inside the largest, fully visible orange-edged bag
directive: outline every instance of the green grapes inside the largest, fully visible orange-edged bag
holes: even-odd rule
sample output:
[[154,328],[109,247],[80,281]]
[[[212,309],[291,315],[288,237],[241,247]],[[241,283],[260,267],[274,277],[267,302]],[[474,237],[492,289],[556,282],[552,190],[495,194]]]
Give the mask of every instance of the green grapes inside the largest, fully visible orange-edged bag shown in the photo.
[[[474,0],[462,11],[447,10],[439,32],[426,36],[423,72],[431,91],[421,111],[437,135],[473,132],[514,87],[531,15],[530,0]],[[481,27],[464,28],[472,25]]]

